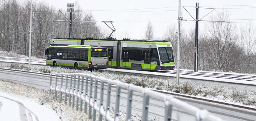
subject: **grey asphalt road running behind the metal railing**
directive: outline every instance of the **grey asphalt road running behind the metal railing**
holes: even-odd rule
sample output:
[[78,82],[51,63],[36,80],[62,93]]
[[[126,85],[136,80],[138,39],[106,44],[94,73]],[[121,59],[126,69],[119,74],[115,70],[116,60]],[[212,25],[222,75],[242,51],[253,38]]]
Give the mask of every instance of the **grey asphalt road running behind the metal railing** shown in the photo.
[[[49,75],[42,74],[32,74],[32,73],[23,73],[16,71],[7,71],[0,70],[0,80],[13,81],[15,83],[20,83],[40,89],[49,90]],[[59,83],[60,84],[60,83]],[[106,86],[105,86],[106,90]],[[100,92],[98,90],[98,92]],[[111,97],[111,107],[115,105],[115,87],[112,87],[112,97]],[[121,90],[121,104],[120,110],[126,111],[126,90]],[[106,92],[105,92],[106,93]],[[99,95],[98,95],[99,97]],[[222,118],[225,121],[255,121],[256,120],[256,111],[236,108],[228,105],[217,104],[213,102],[206,102],[201,100],[194,100],[191,98],[177,97],[182,101],[185,101],[191,105],[194,105],[201,109],[207,109],[211,114]],[[106,96],[104,96],[106,101]],[[132,101],[132,114],[141,115],[142,107],[142,94],[134,93]],[[157,99],[150,99],[149,106],[149,115],[151,119],[163,120],[164,115],[164,104],[162,101]],[[174,108],[172,112],[173,121],[192,121],[195,119],[194,116],[187,114],[185,111],[181,111],[177,108]]]

